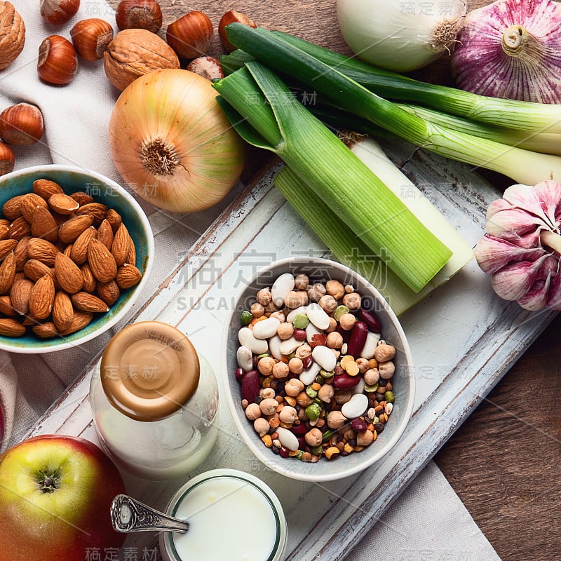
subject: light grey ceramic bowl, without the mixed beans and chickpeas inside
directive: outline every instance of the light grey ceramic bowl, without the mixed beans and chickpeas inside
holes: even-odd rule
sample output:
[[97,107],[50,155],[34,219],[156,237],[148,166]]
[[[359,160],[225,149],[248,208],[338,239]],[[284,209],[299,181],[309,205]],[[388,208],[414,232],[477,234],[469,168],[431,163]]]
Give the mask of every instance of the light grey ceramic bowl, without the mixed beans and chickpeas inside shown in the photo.
[[[266,448],[254,431],[252,423],[245,417],[241,407],[240,383],[236,380],[236,351],[239,347],[238,330],[241,327],[240,312],[249,309],[255,302],[255,294],[260,288],[271,286],[282,273],[306,273],[313,280],[327,281],[330,278],[340,280],[342,283],[353,285],[355,290],[363,296],[365,309],[374,311],[382,325],[382,337],[386,342],[396,346],[397,354],[396,374],[392,379],[393,393],[396,396],[391,417],[380,433],[376,442],[365,448],[362,452],[339,457],[332,461],[322,458],[316,464],[307,464],[297,459],[285,459],[273,454]],[[223,364],[222,375],[224,386],[232,417],[245,443],[255,456],[273,471],[303,481],[329,481],[345,478],[353,473],[363,471],[365,468],[381,459],[399,440],[410,420],[414,403],[414,377],[412,358],[407,344],[405,333],[396,314],[379,294],[362,276],[337,262],[315,257],[293,257],[272,263],[266,269],[257,273],[248,286],[241,290],[236,299],[236,306],[231,312],[224,328],[222,341]]]

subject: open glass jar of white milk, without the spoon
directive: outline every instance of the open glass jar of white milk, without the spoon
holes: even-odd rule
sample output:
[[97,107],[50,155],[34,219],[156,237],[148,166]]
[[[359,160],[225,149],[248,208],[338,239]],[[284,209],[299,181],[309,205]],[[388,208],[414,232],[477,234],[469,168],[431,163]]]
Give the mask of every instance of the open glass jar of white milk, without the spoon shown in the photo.
[[162,532],[163,561],[281,561],[287,543],[283,507],[255,475],[215,469],[197,475],[171,499],[168,514],[189,532]]

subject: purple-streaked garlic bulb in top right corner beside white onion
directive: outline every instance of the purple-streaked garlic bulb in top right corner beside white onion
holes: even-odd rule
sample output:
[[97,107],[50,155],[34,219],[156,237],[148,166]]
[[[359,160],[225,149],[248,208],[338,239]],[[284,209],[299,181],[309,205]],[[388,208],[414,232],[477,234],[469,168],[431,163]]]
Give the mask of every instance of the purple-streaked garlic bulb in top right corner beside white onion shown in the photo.
[[452,69],[459,88],[538,103],[561,102],[561,4],[497,0],[468,13]]

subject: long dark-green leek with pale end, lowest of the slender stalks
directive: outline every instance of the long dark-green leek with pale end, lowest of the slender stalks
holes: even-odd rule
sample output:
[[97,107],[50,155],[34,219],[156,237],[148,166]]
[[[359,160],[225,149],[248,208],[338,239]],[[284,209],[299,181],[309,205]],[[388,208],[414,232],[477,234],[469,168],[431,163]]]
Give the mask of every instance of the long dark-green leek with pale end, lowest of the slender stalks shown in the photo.
[[[550,177],[561,177],[559,156],[540,154],[536,157],[532,151],[430,123],[370,92],[304,50],[279,39],[278,34],[239,23],[232,23],[226,29],[231,43],[256,60],[290,74],[330,97],[342,109],[372,121],[403,140],[447,158],[494,170],[522,184],[533,185]],[[248,62],[246,66],[249,64],[252,63]]]

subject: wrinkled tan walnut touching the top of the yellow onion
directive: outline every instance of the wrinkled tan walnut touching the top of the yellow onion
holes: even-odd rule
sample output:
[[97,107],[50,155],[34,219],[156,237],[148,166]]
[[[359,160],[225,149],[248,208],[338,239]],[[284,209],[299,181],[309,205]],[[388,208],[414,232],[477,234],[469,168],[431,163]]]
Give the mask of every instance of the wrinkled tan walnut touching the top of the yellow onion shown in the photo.
[[162,68],[179,68],[173,48],[147,29],[123,29],[103,53],[105,74],[119,90],[139,76]]

